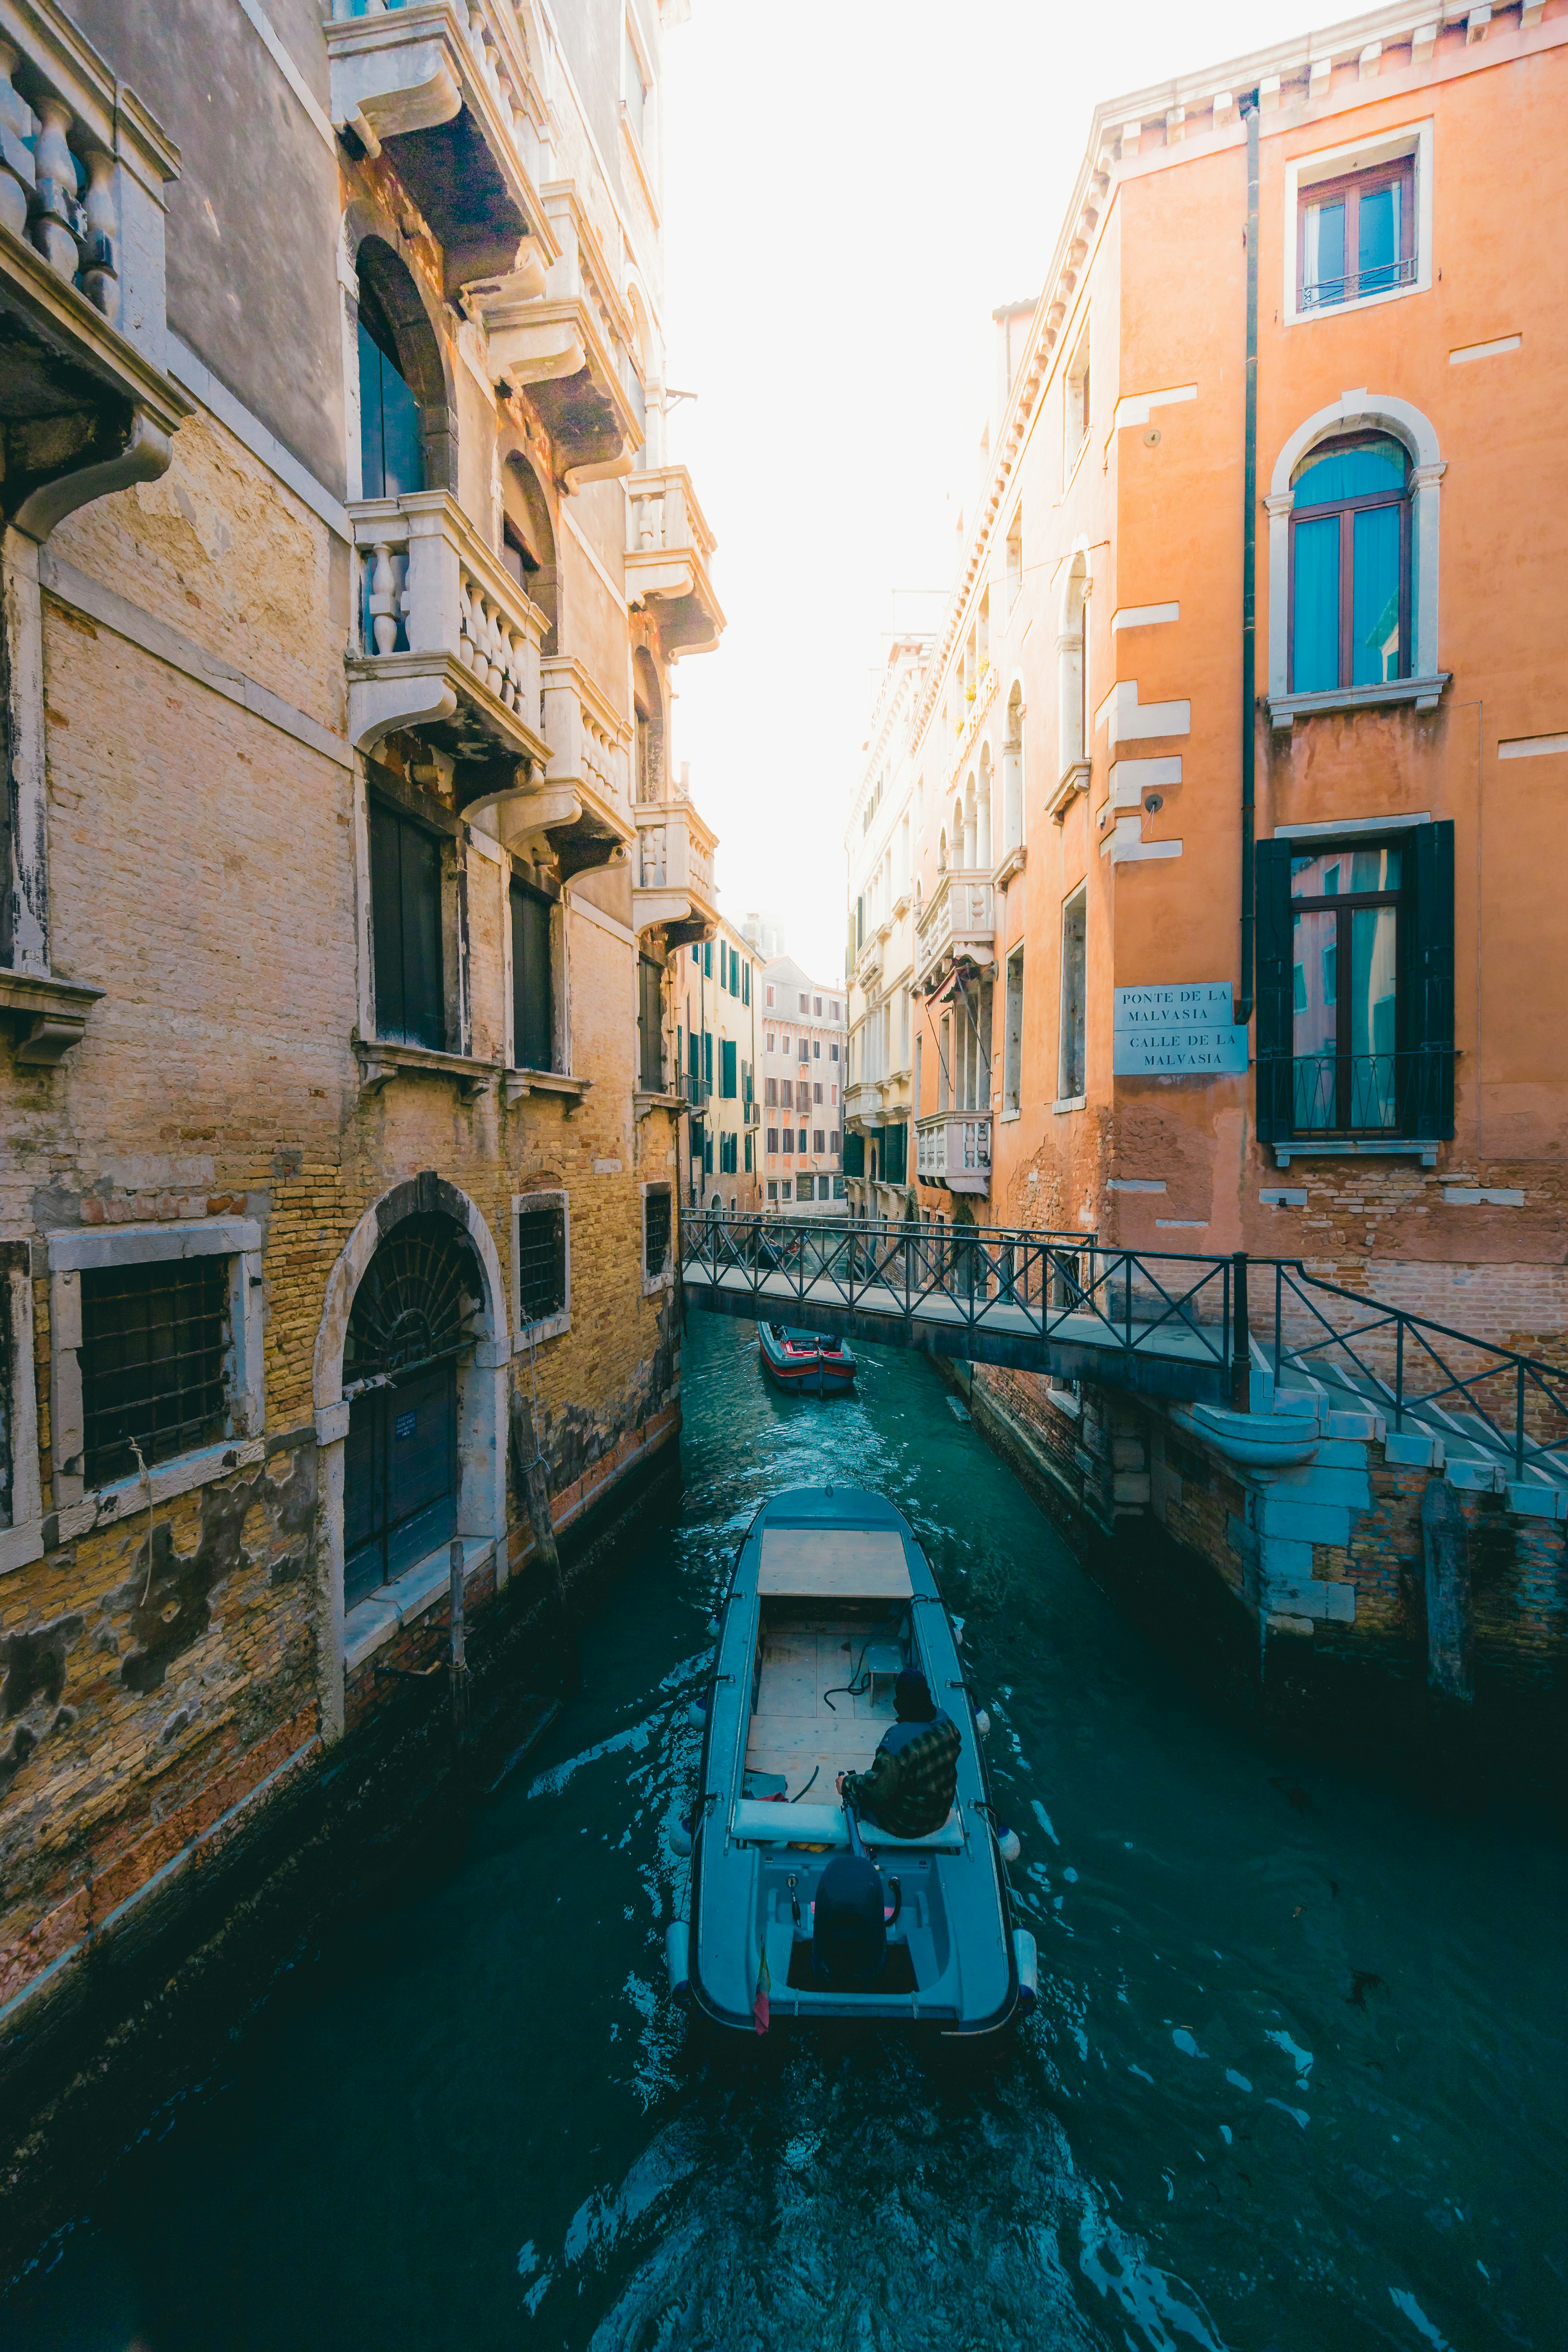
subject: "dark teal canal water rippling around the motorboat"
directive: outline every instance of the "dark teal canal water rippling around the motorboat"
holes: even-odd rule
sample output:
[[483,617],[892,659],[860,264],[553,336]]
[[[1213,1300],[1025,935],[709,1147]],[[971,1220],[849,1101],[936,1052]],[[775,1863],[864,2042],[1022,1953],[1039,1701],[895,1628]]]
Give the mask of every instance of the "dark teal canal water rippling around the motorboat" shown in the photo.
[[[917,1357],[691,1317],[684,1491],[461,1851],[301,1959],[0,2307],[5,2352],[1568,2343],[1559,1844],[1284,1752],[1133,1632]],[[705,1621],[875,1486],[966,1616],[1041,2006],[719,2063],[663,1980]]]

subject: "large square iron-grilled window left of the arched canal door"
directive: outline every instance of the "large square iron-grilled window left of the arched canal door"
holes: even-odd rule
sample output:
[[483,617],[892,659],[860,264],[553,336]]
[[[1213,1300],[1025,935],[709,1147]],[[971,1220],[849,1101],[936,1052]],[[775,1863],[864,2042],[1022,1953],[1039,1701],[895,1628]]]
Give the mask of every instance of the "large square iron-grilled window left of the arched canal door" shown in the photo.
[[214,1444],[228,1425],[228,1258],[165,1258],[82,1275],[82,1482],[136,1475]]

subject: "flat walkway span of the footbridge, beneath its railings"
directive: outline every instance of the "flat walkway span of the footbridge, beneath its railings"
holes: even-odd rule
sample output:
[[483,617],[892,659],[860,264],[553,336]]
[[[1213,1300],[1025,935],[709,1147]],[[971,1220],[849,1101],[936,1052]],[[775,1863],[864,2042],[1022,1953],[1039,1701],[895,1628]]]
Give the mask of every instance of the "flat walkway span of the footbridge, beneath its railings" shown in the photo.
[[832,1275],[769,1272],[764,1268],[689,1261],[686,1305],[757,1322],[804,1324],[839,1338],[891,1348],[926,1348],[971,1364],[1048,1371],[1063,1381],[1107,1381],[1159,1397],[1225,1395],[1225,1334],[1220,1324],[1192,1327],[1175,1317],[1131,1324],[1093,1312],[1027,1310],[999,1298],[914,1291],[886,1282],[846,1284]]

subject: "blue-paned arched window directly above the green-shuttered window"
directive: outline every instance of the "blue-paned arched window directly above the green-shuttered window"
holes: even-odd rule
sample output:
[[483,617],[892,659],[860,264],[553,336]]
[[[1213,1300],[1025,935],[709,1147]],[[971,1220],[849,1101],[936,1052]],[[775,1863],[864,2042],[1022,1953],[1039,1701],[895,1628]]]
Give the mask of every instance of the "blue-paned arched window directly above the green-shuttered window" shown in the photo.
[[1291,492],[1291,691],[1408,677],[1408,449],[1392,433],[1319,442]]

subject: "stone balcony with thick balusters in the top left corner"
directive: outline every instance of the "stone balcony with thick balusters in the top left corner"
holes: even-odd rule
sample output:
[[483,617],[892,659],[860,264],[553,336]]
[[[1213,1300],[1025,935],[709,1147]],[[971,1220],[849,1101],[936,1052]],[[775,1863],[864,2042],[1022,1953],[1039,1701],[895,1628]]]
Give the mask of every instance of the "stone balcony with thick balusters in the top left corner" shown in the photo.
[[63,9],[0,0],[0,510],[28,539],[160,475],[190,414],[167,374],[176,176],[176,148]]

